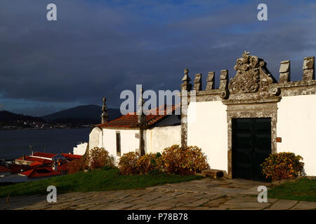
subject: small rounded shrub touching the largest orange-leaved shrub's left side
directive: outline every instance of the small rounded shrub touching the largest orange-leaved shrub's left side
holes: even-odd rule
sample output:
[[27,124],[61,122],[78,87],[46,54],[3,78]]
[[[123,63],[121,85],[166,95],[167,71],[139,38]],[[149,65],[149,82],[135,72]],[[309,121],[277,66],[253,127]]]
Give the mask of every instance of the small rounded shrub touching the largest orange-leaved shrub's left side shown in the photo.
[[152,174],[159,172],[160,153],[148,153],[140,156],[136,162],[136,167],[140,174]]

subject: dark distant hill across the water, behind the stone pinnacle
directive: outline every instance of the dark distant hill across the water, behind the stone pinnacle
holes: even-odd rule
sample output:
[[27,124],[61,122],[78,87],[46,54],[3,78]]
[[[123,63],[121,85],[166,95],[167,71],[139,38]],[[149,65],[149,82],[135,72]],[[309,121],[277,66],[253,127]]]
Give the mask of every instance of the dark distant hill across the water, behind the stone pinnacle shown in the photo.
[[[102,107],[96,105],[76,106],[71,109],[51,113],[41,118],[47,121],[58,123],[100,123]],[[121,116],[119,109],[107,108],[109,120]]]

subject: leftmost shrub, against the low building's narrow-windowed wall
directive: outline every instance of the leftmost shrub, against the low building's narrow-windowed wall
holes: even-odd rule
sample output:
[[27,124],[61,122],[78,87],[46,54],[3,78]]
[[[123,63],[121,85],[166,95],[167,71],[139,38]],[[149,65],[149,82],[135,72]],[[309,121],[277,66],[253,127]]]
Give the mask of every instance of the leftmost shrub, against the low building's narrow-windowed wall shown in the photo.
[[104,148],[95,147],[89,152],[88,164],[91,169],[100,169],[105,166],[114,167],[114,159]]

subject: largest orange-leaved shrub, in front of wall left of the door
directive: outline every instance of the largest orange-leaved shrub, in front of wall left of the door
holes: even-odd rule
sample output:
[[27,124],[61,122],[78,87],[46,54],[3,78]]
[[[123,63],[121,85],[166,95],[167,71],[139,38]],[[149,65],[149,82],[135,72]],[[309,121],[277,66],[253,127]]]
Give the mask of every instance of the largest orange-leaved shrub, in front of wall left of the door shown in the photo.
[[169,174],[195,174],[209,168],[206,156],[197,146],[173,145],[165,148],[159,163]]

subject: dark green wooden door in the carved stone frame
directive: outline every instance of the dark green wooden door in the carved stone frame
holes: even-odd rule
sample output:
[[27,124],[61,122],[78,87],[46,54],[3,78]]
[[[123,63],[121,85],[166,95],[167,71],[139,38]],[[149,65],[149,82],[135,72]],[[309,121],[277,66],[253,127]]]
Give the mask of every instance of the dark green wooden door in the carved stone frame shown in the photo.
[[271,153],[271,118],[232,119],[232,177],[270,181],[261,164]]

